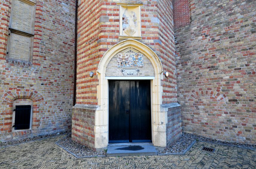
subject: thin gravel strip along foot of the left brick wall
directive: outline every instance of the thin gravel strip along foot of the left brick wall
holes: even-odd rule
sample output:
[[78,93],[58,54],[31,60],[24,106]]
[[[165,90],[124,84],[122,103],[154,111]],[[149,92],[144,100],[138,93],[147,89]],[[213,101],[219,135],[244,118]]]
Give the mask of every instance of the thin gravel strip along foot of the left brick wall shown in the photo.
[[71,130],[67,130],[67,131],[62,131],[62,132],[57,132],[57,133],[52,133],[52,134],[47,134],[47,135],[40,135],[40,136],[22,138],[22,139],[18,139],[18,140],[11,140],[11,141],[6,141],[6,142],[0,142],[0,147],[11,146],[11,145],[20,144],[20,143],[26,143],[28,141],[33,141],[33,140],[38,140],[38,139],[42,139],[42,138],[53,137],[53,136],[56,136],[56,135],[67,134],[67,133],[70,133],[70,132],[71,132]]

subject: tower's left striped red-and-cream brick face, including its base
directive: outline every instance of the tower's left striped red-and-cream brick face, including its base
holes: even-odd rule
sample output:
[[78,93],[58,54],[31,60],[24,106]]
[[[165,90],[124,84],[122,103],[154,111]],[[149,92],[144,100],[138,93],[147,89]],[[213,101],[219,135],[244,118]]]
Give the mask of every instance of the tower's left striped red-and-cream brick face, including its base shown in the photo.
[[[81,1],[78,6],[77,21],[77,75],[76,75],[76,104],[97,105],[96,86],[98,78],[96,70],[105,49],[100,45],[104,36],[104,26],[99,22],[99,17],[105,8],[101,0]],[[94,72],[93,78],[89,76]],[[93,150],[95,110],[74,108],[72,116],[72,139]]]

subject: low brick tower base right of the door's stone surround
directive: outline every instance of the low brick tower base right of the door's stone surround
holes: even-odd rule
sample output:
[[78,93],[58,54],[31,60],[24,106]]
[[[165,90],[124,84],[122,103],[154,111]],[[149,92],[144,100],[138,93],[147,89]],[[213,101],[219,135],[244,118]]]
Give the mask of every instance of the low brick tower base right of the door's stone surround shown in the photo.
[[180,107],[168,108],[166,124],[166,142],[170,146],[182,135]]

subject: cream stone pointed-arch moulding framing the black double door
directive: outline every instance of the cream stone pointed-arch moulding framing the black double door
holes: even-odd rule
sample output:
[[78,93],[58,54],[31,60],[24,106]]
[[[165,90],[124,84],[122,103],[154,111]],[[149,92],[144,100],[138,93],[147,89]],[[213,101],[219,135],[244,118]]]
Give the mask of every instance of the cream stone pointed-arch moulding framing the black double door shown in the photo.
[[[163,79],[163,66],[157,54],[147,45],[137,40],[128,39],[117,43],[105,52],[98,66],[97,99],[99,107],[95,112],[95,148],[100,149],[108,146],[108,79],[105,73],[109,61],[117,53],[127,48],[134,48],[140,51],[151,61],[155,77],[151,80],[151,124],[152,142],[155,146],[166,146],[166,123],[167,113],[161,109],[162,92],[161,79]],[[129,78],[131,79],[131,78]],[[161,111],[162,110],[162,111]]]

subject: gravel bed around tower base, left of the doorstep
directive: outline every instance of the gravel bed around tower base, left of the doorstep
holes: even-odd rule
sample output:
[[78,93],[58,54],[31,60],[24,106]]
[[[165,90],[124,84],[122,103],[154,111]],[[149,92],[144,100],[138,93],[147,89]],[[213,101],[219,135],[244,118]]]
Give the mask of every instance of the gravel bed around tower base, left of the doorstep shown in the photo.
[[71,139],[71,135],[68,137],[63,138],[58,142],[59,145],[66,148],[68,151],[72,152],[73,154],[77,155],[78,157],[85,157],[85,156],[105,156],[105,151],[95,152],[86,146],[83,146]]

